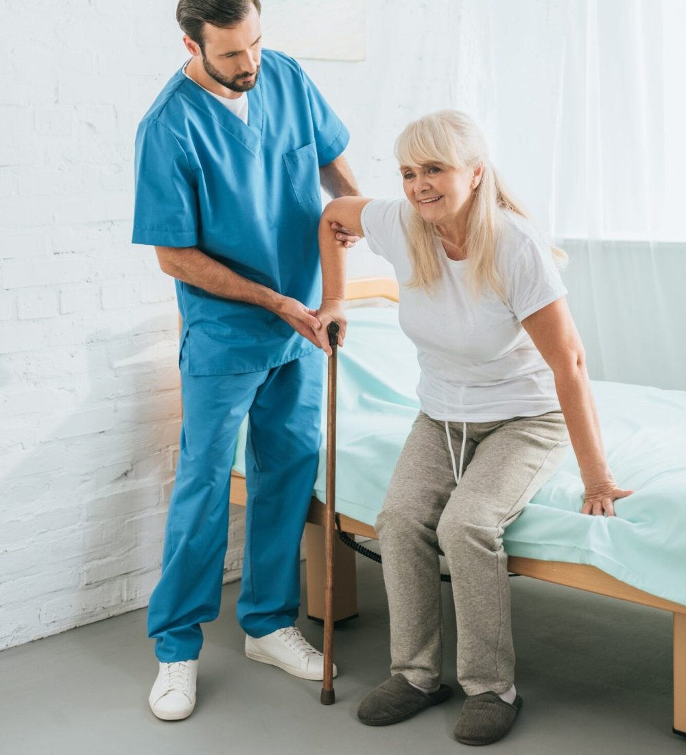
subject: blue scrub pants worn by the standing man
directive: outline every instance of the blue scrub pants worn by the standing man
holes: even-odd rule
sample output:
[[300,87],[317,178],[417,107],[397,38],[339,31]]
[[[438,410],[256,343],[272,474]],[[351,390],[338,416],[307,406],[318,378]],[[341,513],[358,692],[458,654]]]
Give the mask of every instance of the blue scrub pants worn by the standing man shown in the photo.
[[162,578],[148,635],[165,663],[198,658],[200,624],[217,618],[229,527],[229,483],[248,414],[245,553],[238,623],[253,637],[294,624],[300,539],[317,471],[323,354],[247,374],[193,377],[181,357],[183,426]]

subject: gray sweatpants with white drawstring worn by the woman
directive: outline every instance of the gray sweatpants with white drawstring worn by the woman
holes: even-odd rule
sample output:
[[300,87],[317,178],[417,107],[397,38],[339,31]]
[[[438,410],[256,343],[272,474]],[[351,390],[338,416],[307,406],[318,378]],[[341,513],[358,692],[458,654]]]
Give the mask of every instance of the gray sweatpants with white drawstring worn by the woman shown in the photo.
[[[460,458],[463,423],[449,423]],[[377,518],[391,624],[391,673],[427,689],[441,677],[438,548],[452,576],[457,680],[467,695],[514,683],[507,554],[503,529],[552,476],[568,446],[561,411],[468,422],[456,485],[445,422],[423,412]],[[459,461],[458,461],[459,464]]]

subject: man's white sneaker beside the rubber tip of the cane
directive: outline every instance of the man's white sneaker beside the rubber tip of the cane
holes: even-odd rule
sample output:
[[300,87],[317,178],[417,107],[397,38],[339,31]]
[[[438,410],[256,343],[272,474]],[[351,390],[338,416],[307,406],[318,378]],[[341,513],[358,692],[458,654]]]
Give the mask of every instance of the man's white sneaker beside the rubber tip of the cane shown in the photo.
[[[297,627],[278,629],[264,637],[245,636],[245,655],[278,666],[300,679],[324,679],[324,654],[315,650]],[[334,676],[338,670],[334,664]]]

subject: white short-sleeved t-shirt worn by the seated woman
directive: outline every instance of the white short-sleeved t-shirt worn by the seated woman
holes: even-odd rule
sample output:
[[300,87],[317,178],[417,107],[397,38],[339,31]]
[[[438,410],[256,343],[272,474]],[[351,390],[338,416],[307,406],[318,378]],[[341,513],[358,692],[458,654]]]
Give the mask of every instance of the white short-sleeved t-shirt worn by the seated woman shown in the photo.
[[408,288],[412,264],[406,199],[374,199],[362,210],[369,248],[395,268],[400,327],[417,347],[422,411],[436,420],[491,422],[560,408],[552,370],[521,320],[567,294],[549,245],[523,217],[503,212],[496,260],[507,303],[485,289],[476,299],[468,260],[451,260],[440,242],[442,276],[431,294]]

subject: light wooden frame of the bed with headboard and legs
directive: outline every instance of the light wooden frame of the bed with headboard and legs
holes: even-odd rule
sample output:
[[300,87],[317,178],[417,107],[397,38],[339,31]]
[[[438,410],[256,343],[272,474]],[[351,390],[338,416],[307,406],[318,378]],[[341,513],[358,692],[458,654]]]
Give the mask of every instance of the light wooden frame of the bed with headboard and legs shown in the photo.
[[[359,300],[384,297],[398,301],[398,285],[387,278],[351,280],[346,288],[346,300]],[[245,506],[247,494],[245,478],[232,474],[231,503]],[[307,596],[310,618],[323,617],[324,596],[324,504],[312,498],[306,525],[307,549]],[[377,538],[370,525],[340,516],[340,529],[349,535]],[[342,543],[337,542],[336,588],[334,592],[334,618],[343,621],[357,615],[355,593],[355,554]],[[602,572],[595,566],[570,564],[558,561],[540,561],[510,556],[508,569],[513,574],[541,579],[546,582],[577,587],[590,593],[607,595],[612,598],[629,600],[642,606],[672,612],[674,633],[674,717],[673,731],[686,736],[686,606],[658,598],[650,593],[637,590],[628,584]]]

